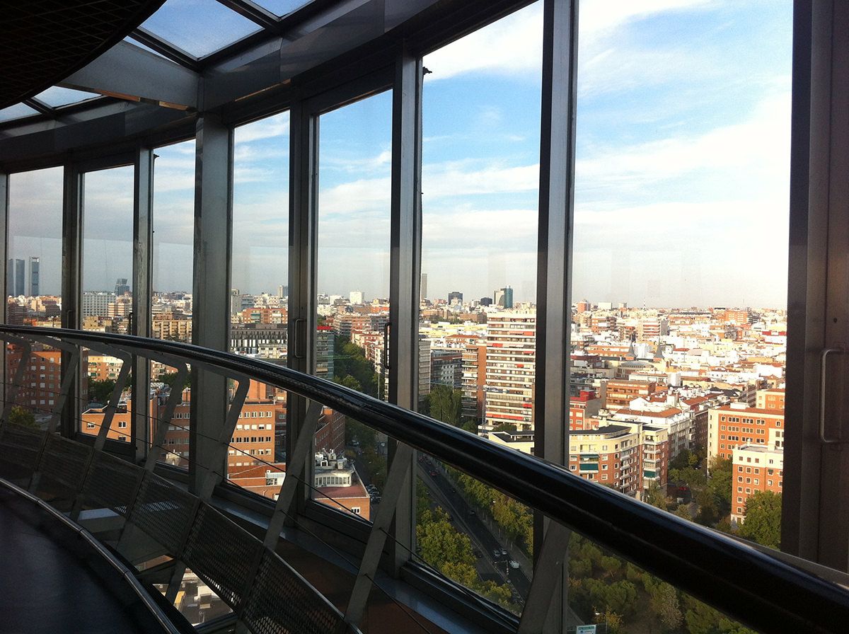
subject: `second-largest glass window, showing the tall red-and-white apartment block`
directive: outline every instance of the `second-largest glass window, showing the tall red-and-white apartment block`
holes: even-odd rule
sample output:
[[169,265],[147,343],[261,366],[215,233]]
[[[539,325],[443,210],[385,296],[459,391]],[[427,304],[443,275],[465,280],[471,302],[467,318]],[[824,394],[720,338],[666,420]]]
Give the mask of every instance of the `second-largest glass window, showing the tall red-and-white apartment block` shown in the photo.
[[[523,452],[534,430],[541,9],[424,58],[419,408]],[[531,511],[430,456],[419,457],[417,497],[424,562],[520,613]],[[440,526],[469,544],[468,560],[434,552]]]

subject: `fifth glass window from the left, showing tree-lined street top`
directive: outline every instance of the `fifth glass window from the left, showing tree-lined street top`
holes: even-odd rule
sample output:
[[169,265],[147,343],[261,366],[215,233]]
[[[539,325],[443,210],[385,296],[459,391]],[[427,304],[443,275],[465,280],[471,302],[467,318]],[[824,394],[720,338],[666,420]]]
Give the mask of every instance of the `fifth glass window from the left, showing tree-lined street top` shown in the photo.
[[[318,376],[385,399],[389,321],[391,92],[318,117]],[[371,519],[388,441],[325,409],[315,437],[312,497]],[[342,484],[333,485],[333,477]],[[337,480],[338,481],[338,480]]]

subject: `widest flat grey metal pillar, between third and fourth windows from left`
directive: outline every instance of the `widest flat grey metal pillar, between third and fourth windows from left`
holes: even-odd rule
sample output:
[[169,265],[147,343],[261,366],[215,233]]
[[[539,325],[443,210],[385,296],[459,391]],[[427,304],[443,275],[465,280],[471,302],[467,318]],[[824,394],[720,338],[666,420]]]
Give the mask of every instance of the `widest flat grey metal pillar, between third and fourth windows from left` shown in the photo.
[[[233,130],[219,115],[198,120],[195,143],[192,343],[227,351],[233,229]],[[205,474],[221,471],[219,441],[228,411],[228,381],[192,367],[189,480],[199,491]],[[226,452],[224,452],[226,455]],[[201,468],[197,468],[199,466]]]

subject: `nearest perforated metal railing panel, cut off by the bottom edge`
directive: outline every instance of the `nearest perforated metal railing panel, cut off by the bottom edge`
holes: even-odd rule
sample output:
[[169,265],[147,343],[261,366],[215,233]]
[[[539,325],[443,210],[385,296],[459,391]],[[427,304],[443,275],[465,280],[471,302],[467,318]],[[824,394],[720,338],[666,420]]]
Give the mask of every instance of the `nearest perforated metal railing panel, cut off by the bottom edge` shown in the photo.
[[289,564],[266,550],[242,620],[254,634],[336,634],[342,615]]

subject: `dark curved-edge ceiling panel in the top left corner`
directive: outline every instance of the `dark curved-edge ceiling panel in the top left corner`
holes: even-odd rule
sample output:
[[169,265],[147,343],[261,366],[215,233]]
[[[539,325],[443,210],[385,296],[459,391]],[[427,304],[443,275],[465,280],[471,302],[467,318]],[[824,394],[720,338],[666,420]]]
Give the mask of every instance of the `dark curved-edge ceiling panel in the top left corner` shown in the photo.
[[164,0],[4,3],[0,109],[82,68],[147,20]]

